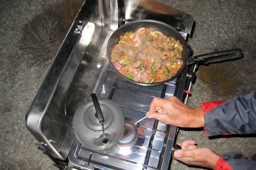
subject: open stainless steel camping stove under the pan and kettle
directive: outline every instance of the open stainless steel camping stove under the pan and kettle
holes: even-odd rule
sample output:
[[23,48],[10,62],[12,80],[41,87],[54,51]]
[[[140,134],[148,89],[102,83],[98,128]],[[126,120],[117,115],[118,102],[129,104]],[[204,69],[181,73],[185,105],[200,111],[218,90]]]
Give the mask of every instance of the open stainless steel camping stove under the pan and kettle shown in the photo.
[[[118,26],[138,19],[168,23],[185,39],[193,24],[192,16],[154,0],[86,0],[63,41],[26,115],[28,129],[60,169],[168,169],[177,128],[148,118],[134,123],[154,97],[182,100],[188,68],[157,86],[119,77],[107,60],[107,42]],[[75,137],[74,113],[91,93],[111,99],[124,112],[125,132],[112,148],[91,150]]]

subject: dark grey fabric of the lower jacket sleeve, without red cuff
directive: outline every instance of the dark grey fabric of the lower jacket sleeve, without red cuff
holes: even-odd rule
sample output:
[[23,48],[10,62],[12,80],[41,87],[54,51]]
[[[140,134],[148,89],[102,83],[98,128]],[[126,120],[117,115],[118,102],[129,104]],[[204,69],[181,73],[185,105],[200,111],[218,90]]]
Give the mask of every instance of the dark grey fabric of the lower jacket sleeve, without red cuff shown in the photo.
[[256,161],[249,160],[238,152],[228,152],[221,155],[232,170],[256,170]]

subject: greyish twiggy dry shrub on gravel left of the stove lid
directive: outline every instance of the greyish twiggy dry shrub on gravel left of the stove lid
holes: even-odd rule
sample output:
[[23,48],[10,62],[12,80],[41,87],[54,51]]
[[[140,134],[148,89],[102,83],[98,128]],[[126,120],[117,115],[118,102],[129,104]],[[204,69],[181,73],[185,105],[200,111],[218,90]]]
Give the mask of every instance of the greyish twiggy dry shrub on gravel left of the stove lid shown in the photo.
[[62,25],[53,7],[44,7],[22,29],[19,49],[29,57],[30,65],[48,65],[60,44]]

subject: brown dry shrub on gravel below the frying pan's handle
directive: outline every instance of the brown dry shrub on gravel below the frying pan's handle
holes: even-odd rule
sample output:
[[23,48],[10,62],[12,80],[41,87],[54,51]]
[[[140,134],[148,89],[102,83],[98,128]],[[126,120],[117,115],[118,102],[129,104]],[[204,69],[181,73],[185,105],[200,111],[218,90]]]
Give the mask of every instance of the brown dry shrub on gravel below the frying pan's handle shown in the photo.
[[207,83],[218,96],[238,95],[243,78],[232,61],[199,66],[199,78]]

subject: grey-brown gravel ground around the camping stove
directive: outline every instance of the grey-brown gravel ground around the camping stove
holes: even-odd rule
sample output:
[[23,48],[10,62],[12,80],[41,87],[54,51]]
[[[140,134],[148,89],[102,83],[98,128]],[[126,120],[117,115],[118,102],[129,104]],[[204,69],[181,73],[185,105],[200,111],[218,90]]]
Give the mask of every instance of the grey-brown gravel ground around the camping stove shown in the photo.
[[[24,118],[49,66],[42,70],[39,67],[27,66],[23,60],[11,66],[9,60],[11,55],[22,55],[16,48],[19,30],[42,5],[53,1],[2,0],[1,2],[0,54],[3,63],[0,70],[0,169],[55,170],[57,168],[52,165],[52,161],[35,146],[37,140],[27,130]],[[208,53],[215,49],[232,48],[238,35],[246,37],[252,34],[252,31],[255,33],[256,2],[254,0],[162,0],[161,2],[194,17],[193,35],[188,39],[193,55]],[[199,106],[201,102],[222,99],[214,97],[211,88],[200,79],[196,79],[191,92],[188,102],[191,107]],[[256,153],[255,137],[209,139],[202,129],[179,129],[176,142],[186,139],[195,140],[198,146],[212,148],[217,154],[233,150],[251,157]],[[202,168],[187,166],[173,159],[171,169],[201,170]]]

